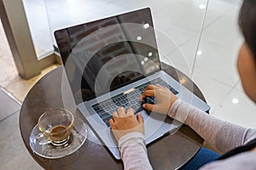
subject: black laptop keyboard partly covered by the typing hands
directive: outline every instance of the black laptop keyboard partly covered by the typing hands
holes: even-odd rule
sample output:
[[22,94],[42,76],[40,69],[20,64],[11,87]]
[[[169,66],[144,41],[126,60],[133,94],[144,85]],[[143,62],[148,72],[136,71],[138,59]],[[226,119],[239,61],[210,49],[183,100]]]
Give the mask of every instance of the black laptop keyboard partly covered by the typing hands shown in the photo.
[[92,105],[92,108],[102,118],[102,121],[105,122],[106,125],[109,127],[109,119],[112,118],[113,111],[117,111],[119,107],[124,107],[125,110],[128,108],[132,108],[136,111],[136,113],[139,111],[143,111],[139,98],[149,84],[160,84],[163,87],[169,88],[172,94],[178,94],[178,92],[174,88],[172,88],[160,78],[157,78],[153,81],[146,82],[138,86],[137,88],[135,88],[136,90],[133,90],[128,94],[118,94],[113,96],[111,99],[106,99],[100,103],[97,103],[96,105]]

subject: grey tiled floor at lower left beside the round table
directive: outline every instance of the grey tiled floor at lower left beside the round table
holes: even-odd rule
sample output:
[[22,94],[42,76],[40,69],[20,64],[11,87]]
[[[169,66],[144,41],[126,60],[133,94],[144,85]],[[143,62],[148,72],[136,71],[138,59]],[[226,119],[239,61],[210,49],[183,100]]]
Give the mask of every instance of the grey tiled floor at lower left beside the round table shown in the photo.
[[20,103],[0,88],[0,169],[42,169],[33,161],[20,136]]

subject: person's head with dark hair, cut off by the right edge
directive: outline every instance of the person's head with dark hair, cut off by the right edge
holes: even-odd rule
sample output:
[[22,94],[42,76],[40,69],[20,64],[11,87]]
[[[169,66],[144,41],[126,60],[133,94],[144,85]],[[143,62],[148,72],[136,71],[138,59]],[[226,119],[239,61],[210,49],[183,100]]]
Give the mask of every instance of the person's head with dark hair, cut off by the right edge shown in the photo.
[[256,0],[244,0],[239,26],[245,42],[240,48],[237,70],[247,96],[256,103]]

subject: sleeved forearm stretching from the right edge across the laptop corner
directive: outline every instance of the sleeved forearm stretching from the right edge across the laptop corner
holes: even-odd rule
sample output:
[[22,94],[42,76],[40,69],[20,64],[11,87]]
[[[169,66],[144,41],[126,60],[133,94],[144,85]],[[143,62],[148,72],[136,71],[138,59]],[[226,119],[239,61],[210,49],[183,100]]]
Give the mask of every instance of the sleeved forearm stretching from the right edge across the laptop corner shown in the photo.
[[183,103],[181,100],[177,100],[172,105],[169,116],[189,125],[203,139],[222,152],[247,142],[253,131],[246,127],[219,120],[192,105]]

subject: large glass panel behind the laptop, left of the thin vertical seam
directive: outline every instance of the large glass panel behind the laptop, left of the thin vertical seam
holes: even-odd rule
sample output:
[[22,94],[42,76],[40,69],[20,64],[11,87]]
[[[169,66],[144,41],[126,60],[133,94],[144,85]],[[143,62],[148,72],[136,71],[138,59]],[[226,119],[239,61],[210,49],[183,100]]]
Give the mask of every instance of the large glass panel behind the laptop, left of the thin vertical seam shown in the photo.
[[[28,1],[28,0],[26,0]],[[138,8],[152,11],[160,60],[189,77],[201,35],[207,0],[44,0],[52,44],[53,32]],[[214,18],[212,18],[214,20]],[[189,50],[183,44],[189,44]]]

